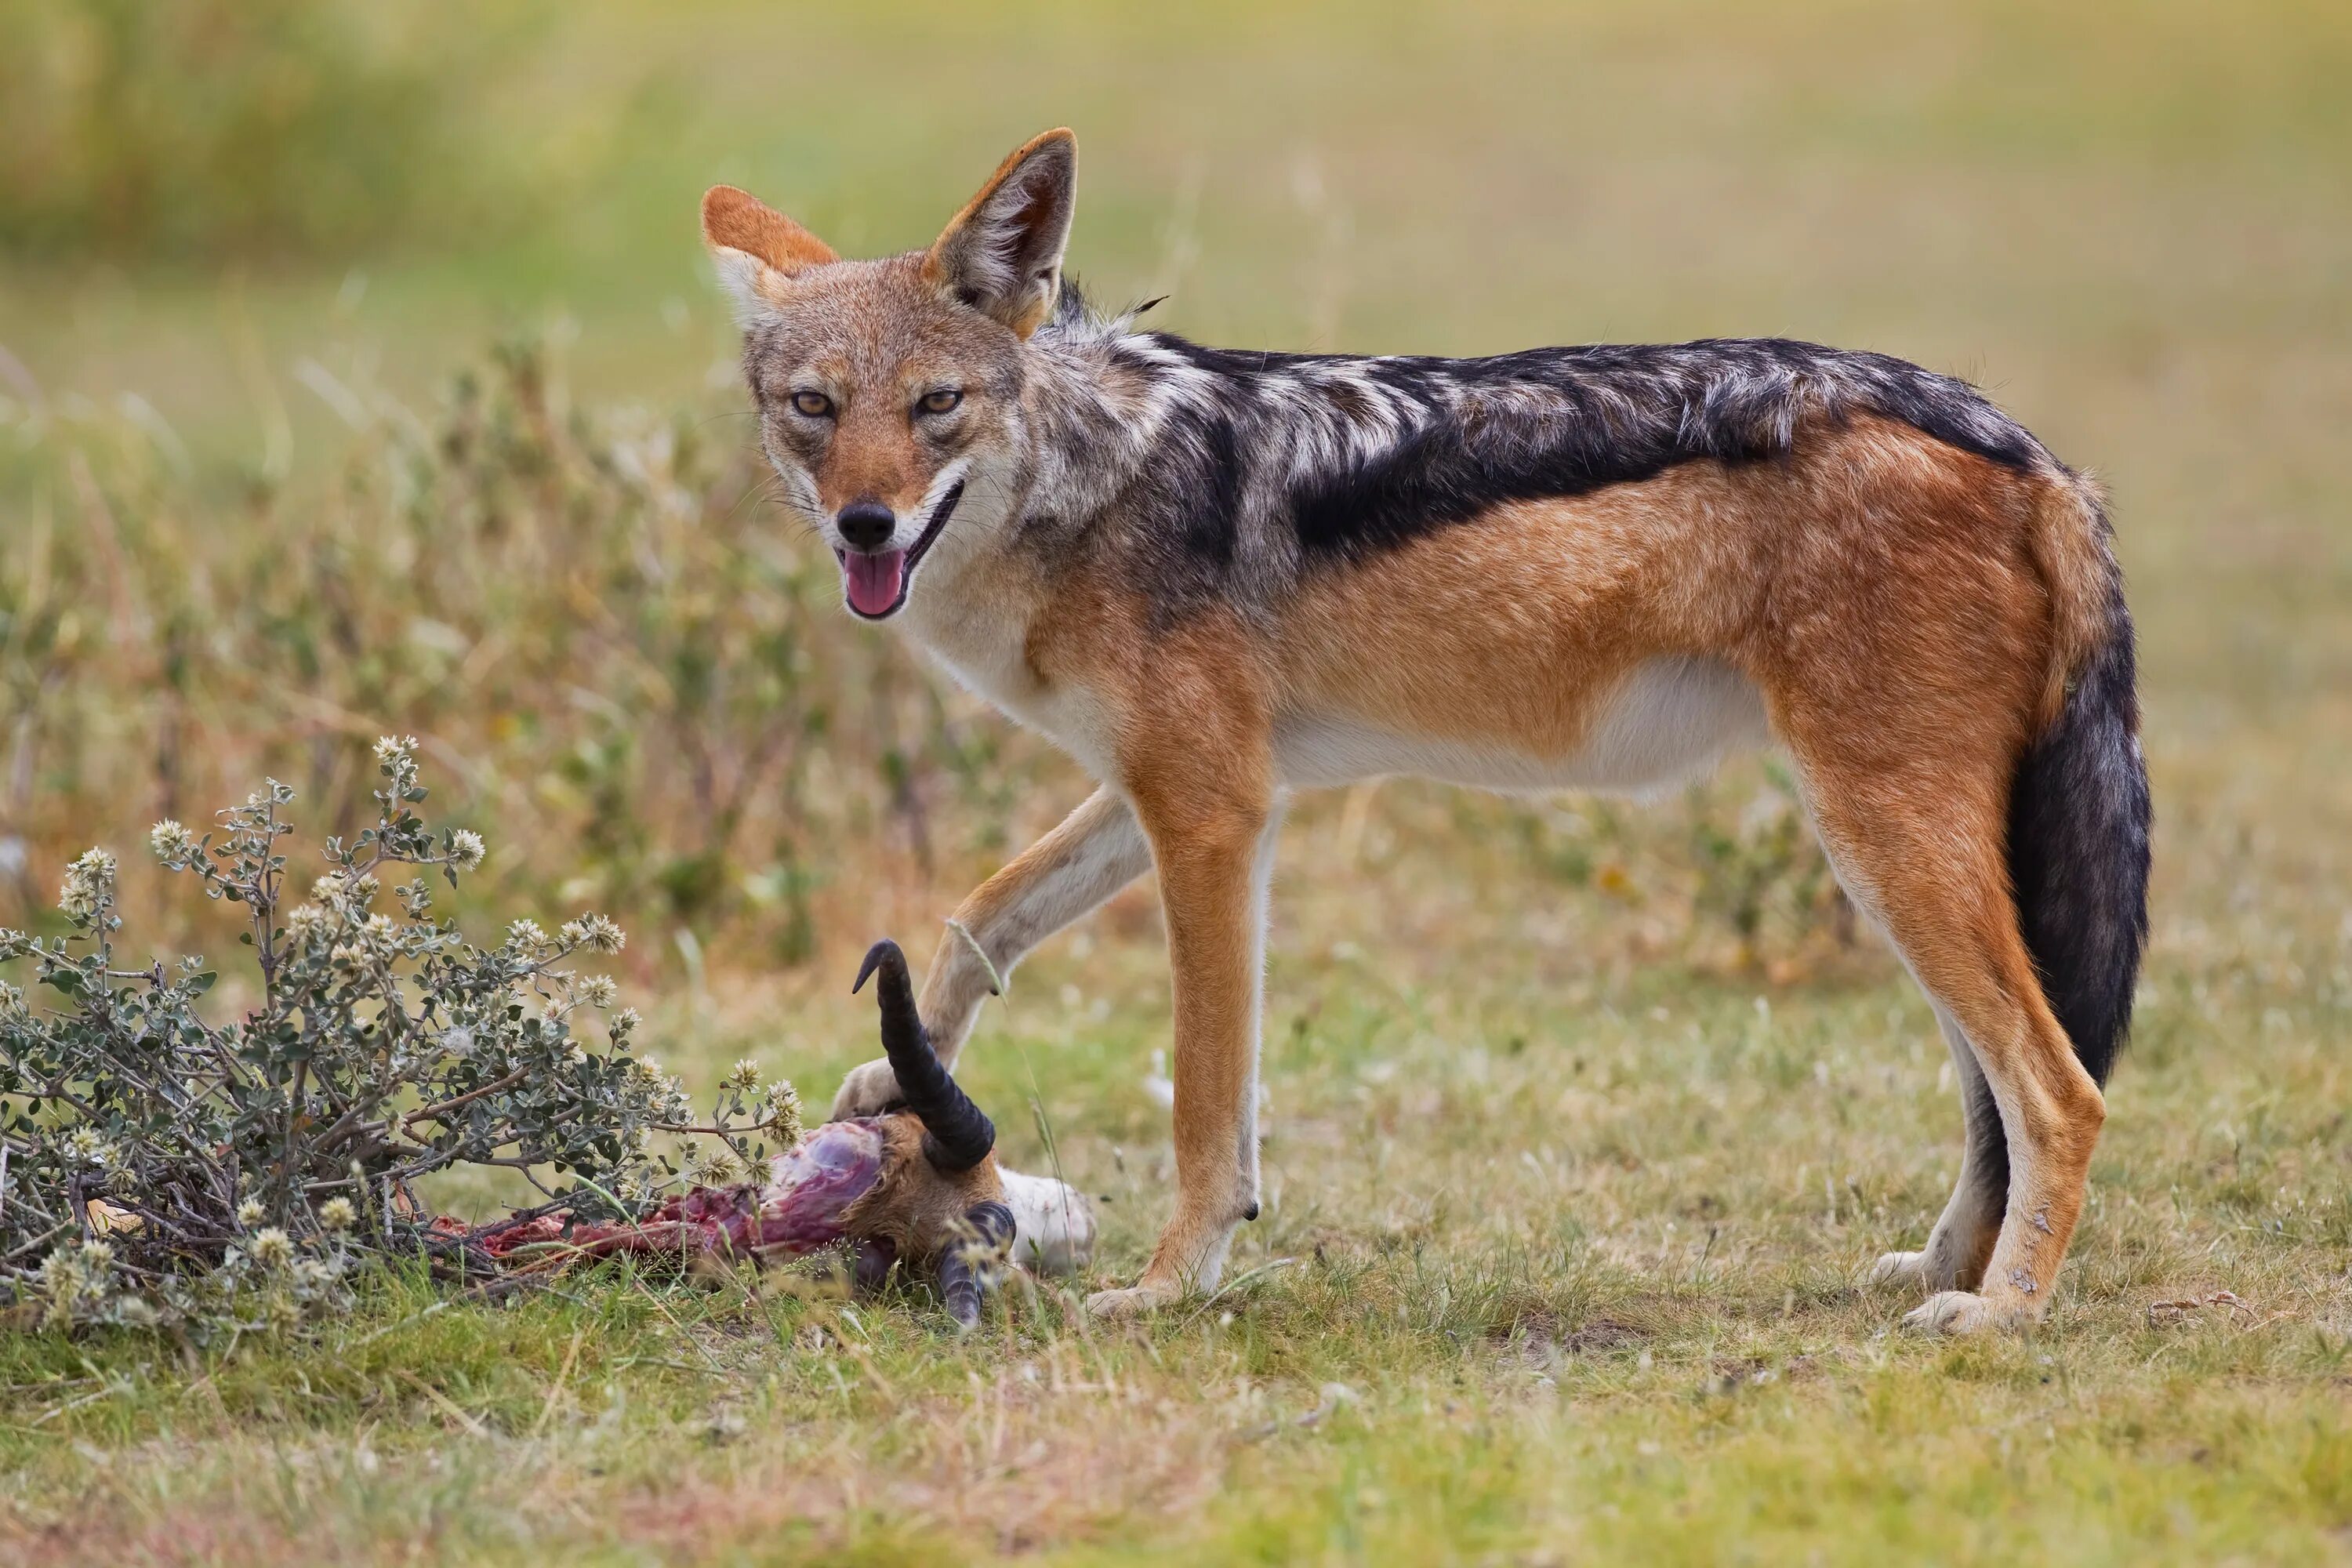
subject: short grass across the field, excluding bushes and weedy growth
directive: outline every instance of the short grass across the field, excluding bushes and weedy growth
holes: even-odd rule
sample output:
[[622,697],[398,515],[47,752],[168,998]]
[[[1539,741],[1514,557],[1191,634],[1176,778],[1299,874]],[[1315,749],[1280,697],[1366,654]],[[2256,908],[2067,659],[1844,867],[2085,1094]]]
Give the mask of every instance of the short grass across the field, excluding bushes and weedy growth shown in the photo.
[[[583,5],[513,66],[499,122],[628,106],[630,136],[522,233],[235,282],[0,263],[0,343],[52,407],[136,393],[202,484],[278,442],[301,496],[348,435],[299,355],[423,400],[501,322],[560,313],[583,404],[727,409],[703,183],[849,249],[913,244],[1004,146],[1073,122],[1080,270],[1174,287],[1162,313],[1200,336],[1792,331],[1985,378],[2114,491],[2159,809],[2138,1032],[2030,1338],[1907,1338],[1907,1302],[1853,1286],[1919,1244],[1957,1164],[1933,1023],[1884,952],[1773,931],[1740,964],[1670,853],[1693,806],[1385,785],[1289,827],[1268,1215],[1223,1298],[1103,1331],[1047,1291],[957,1342],[920,1300],[607,1272],[503,1307],[386,1281],[313,1342],[235,1354],[0,1338],[0,1556],[2352,1556],[2347,66],[2340,7],[2284,0],[2227,26]],[[240,515],[172,517],[198,550]],[[513,701],[572,698],[550,675]],[[235,717],[207,743],[245,745]],[[539,755],[503,733],[480,729],[492,773]],[[750,1053],[821,1098],[870,1056],[840,994],[863,943],[922,957],[993,853],[964,830],[995,813],[1021,839],[1080,795],[1018,748],[1000,769],[995,804],[943,806],[964,816],[931,872],[880,813],[844,818],[804,964],[724,922],[689,961],[652,893],[616,907],[633,985],[663,997],[649,1041],[696,1086]],[[522,827],[534,790],[473,804]],[[127,846],[148,816],[42,799],[56,842]],[[1044,1164],[1035,1098],[1108,1194],[1110,1274],[1167,1204],[1141,1084],[1164,1046],[1143,889],[1033,959],[967,1056],[1016,1164]]]

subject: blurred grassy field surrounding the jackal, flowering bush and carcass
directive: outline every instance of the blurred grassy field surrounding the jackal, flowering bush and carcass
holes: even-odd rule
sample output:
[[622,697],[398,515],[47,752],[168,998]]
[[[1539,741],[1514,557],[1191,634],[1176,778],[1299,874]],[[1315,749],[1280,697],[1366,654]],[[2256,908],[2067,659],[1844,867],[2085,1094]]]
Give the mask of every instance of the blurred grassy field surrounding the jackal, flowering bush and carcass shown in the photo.
[[[943,1354],[814,1305],[767,1345],[717,1291],[668,1298],[689,1335],[621,1281],[169,1401],[118,1394],[179,1356],[19,1335],[0,1540],[2340,1556],[2347,85],[2345,0],[0,0],[0,924],[56,931],[106,844],[120,961],[209,952],[223,1018],[238,910],[148,825],[278,776],[303,886],[402,733],[426,816],[489,839],[442,910],[616,917],[696,1093],[750,1056],[823,1107],[873,1056],[856,954],[927,961],[1087,780],[840,609],[696,202],[917,247],[1054,125],[1075,273],[1200,339],[1790,334],[1983,383],[2112,489],[2157,792],[2133,1044],[2032,1340],[1905,1345],[1853,1291],[1945,1201],[1957,1084],[1769,759],[1658,802],[1397,780],[1284,827],[1247,1305]],[[1167,1213],[1169,1044],[1145,884],[957,1063],[1009,1161],[1103,1199],[1101,1284]],[[550,1427],[586,1324],[656,1338],[600,1328]]]

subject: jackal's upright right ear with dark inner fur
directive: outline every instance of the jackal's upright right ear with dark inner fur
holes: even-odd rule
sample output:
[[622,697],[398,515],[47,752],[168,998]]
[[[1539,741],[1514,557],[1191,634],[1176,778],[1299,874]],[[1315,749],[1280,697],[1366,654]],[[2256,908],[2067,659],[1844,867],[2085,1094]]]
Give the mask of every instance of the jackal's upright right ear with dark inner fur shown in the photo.
[[1021,336],[1054,315],[1077,205],[1077,136],[1047,132],[997,165],[922,261],[922,275]]

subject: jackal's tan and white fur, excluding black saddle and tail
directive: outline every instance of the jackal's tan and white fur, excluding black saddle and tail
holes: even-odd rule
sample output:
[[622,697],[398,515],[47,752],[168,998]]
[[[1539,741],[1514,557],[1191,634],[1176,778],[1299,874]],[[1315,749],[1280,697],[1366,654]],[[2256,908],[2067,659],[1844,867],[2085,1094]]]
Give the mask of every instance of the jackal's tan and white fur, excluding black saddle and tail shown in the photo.
[[[1691,458],[1322,557],[1282,588],[1145,602],[1117,543],[1035,543],[1084,517],[1023,517],[1030,475],[1007,456],[1021,339],[1058,287],[1068,160],[1068,132],[1040,136],[929,252],[889,261],[786,275],[814,254],[804,230],[720,193],[706,235],[771,259],[795,301],[764,327],[790,334],[790,353],[753,374],[769,454],[807,484],[804,510],[875,496],[913,515],[950,465],[978,475],[901,623],[1105,785],[960,910],[988,964],[950,936],[931,969],[922,1016],[943,1056],[990,966],[1009,971],[1108,898],[1141,870],[1143,842],[1157,865],[1176,980],[1176,1215],[1143,1281],[1096,1305],[1150,1307],[1214,1281],[1254,1211],[1261,903],[1298,755],[1369,766],[1421,745],[1543,780],[1571,773],[1628,701],[1663,703],[1661,679],[1670,693],[1675,679],[1719,679],[1759,712],[1740,738],[1769,719],[1790,748],[1839,877],[1999,1107],[2009,1213],[1955,1199],[1940,1246],[1971,1293],[1936,1295],[1929,1321],[2037,1316],[2105,1107],[2025,952],[2006,811],[2023,748],[2107,635],[2112,562],[2089,484],[2046,454],[2004,468],[1891,418],[1804,411],[1785,458]],[[757,364],[814,376],[840,418],[795,421],[790,388],[760,383]],[[931,428],[908,402],[941,376],[967,400]],[[1112,409],[1143,397],[1112,369],[1087,386]],[[887,1091],[887,1065],[861,1067],[835,1114]]]

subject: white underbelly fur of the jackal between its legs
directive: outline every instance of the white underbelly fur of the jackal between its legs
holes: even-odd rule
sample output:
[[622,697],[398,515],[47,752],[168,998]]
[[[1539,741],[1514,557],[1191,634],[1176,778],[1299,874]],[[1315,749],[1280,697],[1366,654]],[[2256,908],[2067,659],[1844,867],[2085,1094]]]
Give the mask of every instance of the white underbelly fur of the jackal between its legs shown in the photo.
[[1635,665],[1597,698],[1578,743],[1559,752],[1472,731],[1399,733],[1359,715],[1296,712],[1275,724],[1275,766],[1291,788],[1414,773],[1508,792],[1642,792],[1766,738],[1755,682],[1715,658],[1677,656]]

